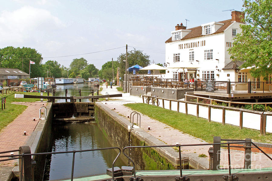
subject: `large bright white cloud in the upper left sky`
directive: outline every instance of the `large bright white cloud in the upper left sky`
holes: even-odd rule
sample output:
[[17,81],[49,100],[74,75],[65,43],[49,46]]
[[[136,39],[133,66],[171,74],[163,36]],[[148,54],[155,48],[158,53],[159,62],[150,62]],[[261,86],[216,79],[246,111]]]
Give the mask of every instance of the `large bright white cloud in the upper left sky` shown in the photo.
[[24,6],[18,10],[2,11],[0,15],[0,37],[2,43],[37,41],[48,31],[65,27],[50,11]]

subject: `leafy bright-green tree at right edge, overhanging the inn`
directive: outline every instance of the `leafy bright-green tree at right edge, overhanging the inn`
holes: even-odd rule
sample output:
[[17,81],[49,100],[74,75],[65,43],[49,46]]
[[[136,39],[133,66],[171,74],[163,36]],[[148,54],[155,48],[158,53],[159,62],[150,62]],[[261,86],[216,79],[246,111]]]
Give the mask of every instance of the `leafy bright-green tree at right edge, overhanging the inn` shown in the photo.
[[272,72],[272,0],[244,0],[243,7],[246,24],[240,25],[242,33],[228,52],[233,61],[244,62],[241,68],[255,65],[250,70],[253,77],[267,79]]

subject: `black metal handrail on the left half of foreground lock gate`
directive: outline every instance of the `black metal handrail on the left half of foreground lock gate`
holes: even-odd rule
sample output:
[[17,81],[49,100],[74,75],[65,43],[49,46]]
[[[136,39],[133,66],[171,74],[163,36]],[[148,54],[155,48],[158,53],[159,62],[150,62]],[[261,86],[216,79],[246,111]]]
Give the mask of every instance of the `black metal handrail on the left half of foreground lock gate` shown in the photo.
[[[73,150],[73,151],[59,151],[59,152],[46,152],[46,153],[17,154],[17,155],[13,155],[12,156],[12,157],[16,157],[16,158],[9,158],[9,159],[5,159],[5,160],[0,160],[0,162],[1,161],[7,161],[7,160],[21,159],[24,156],[73,153],[73,162],[72,162],[72,171],[71,171],[71,181],[73,181],[74,164],[75,164],[75,153],[77,153],[77,152],[86,152],[86,151],[109,150],[109,149],[118,149],[119,150],[118,155],[115,157],[114,161],[112,162],[112,180],[114,180],[114,164],[115,164],[117,158],[119,157],[119,155],[121,154],[121,149],[118,148],[118,147],[97,148],[97,149],[78,150],[78,151]],[[12,150],[12,151],[15,151],[15,150]],[[19,151],[19,150],[16,150],[16,151]],[[11,152],[11,151],[5,151],[5,153],[9,153],[9,152]],[[2,152],[0,152],[0,154],[1,153]],[[0,158],[5,158],[5,157],[11,157],[11,156],[10,155],[2,155],[2,156],[0,156]]]

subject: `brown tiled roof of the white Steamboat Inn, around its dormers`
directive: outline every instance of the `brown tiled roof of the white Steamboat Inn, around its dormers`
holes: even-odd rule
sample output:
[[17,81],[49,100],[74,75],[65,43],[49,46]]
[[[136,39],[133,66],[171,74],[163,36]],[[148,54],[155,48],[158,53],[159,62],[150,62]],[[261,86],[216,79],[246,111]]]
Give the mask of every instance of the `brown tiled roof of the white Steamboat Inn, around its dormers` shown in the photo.
[[[231,25],[233,23],[233,21],[232,21],[232,19],[229,19],[229,20],[225,20],[225,21],[219,21],[219,23],[224,23],[224,25],[222,27],[220,27],[215,33],[223,32],[227,27],[229,27],[229,25]],[[199,36],[205,36],[205,35],[202,35],[202,27],[201,26],[189,28],[186,30],[192,30],[192,31],[190,31],[190,33],[188,33],[181,40],[199,37]],[[213,34],[215,34],[215,33],[213,33]],[[171,41],[172,41],[172,37],[170,37],[168,40],[166,40],[165,43],[169,43]],[[176,41],[179,41],[179,40],[176,40]]]

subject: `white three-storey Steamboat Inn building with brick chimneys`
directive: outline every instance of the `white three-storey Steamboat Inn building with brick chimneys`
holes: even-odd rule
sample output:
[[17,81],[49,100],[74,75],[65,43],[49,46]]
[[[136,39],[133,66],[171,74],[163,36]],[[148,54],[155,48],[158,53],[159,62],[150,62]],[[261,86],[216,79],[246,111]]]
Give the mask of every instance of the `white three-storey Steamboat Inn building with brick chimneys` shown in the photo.
[[232,62],[227,50],[233,46],[236,34],[241,33],[241,18],[244,18],[242,12],[232,11],[232,19],[225,21],[205,23],[189,29],[178,24],[176,30],[171,32],[172,37],[165,42],[165,78],[180,81],[183,78],[238,81],[236,67],[241,63]]

